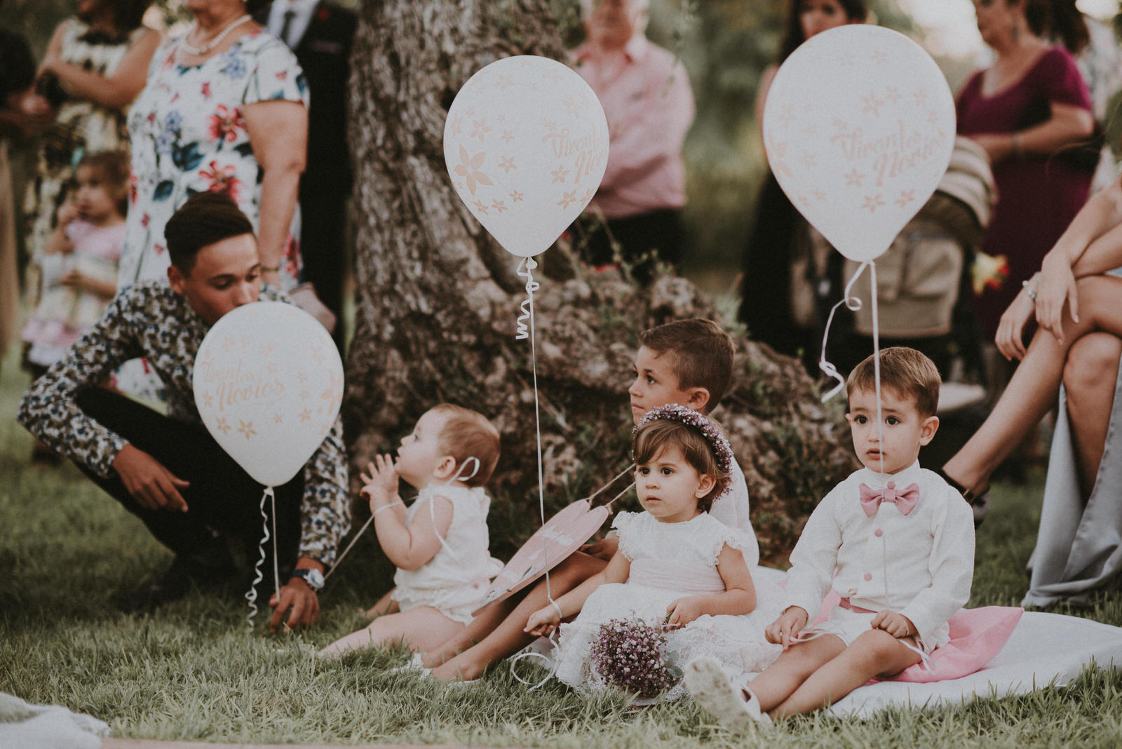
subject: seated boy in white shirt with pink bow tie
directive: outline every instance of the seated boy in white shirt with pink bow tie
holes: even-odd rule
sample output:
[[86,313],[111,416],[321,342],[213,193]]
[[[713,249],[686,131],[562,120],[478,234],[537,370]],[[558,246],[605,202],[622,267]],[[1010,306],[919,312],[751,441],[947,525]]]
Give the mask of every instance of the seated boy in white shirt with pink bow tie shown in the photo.
[[[791,553],[787,607],[766,630],[783,654],[744,688],[716,660],[686,668],[690,693],[727,725],[811,712],[899,674],[947,642],[947,620],[969,599],[971,507],[917,460],[939,426],[939,372],[903,346],[882,351],[880,369],[880,427],[874,357],[846,382],[846,418],[865,468],[818,505]],[[831,584],[840,605],[804,629]]]

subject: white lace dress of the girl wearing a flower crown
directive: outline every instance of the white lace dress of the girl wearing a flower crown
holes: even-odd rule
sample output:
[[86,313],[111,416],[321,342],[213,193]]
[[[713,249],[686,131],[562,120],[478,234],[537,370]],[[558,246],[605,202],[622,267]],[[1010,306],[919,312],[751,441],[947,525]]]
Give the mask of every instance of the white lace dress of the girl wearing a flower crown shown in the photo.
[[[728,544],[743,552],[749,545],[741,531],[703,512],[686,523],[660,523],[646,512],[620,512],[613,527],[619,531],[619,552],[631,562],[631,576],[626,583],[598,588],[577,620],[561,626],[557,676],[577,688],[607,686],[589,659],[601,623],[609,619],[641,619],[659,625],[675,599],[723,592],[725,583],[717,571],[721,548]],[[711,656],[729,676],[741,681],[770,666],[782,649],[764,639],[764,628],[780,614],[783,593],[772,583],[753,582],[756,608],[752,613],[706,614],[666,632],[671,663],[683,667],[698,656]],[[686,687],[679,683],[666,697],[684,694]]]

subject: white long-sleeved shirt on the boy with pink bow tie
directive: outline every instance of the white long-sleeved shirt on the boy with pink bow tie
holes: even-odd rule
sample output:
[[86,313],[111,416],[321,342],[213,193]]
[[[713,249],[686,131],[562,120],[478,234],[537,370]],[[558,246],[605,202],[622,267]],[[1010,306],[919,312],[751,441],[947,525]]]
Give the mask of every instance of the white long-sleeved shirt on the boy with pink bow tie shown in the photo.
[[[919,486],[907,516],[881,502],[868,517],[862,483],[882,490]],[[971,595],[974,514],[962,494],[914,462],[895,474],[862,469],[835,487],[807,520],[791,552],[784,608],[801,607],[813,620],[833,584],[855,607],[908,617],[920,639],[946,626]]]

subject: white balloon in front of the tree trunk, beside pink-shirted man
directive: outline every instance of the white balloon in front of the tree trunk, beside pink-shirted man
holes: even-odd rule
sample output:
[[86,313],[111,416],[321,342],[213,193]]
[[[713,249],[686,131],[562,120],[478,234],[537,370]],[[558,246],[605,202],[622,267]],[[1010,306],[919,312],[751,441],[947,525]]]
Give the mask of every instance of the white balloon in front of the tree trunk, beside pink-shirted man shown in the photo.
[[505,57],[472,75],[444,121],[456,193],[507,252],[540,255],[592,200],[608,163],[596,94],[548,57]]

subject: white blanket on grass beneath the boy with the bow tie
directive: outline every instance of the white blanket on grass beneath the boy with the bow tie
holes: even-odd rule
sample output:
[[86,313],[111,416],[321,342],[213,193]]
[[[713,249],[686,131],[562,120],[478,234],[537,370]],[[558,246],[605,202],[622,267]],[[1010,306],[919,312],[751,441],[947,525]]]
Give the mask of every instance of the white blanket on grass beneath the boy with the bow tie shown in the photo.
[[1088,665],[1122,668],[1122,628],[1026,611],[1005,647],[982,671],[929,684],[877,682],[854,690],[831,710],[837,715],[866,718],[888,708],[962,705],[975,697],[1066,686]]

